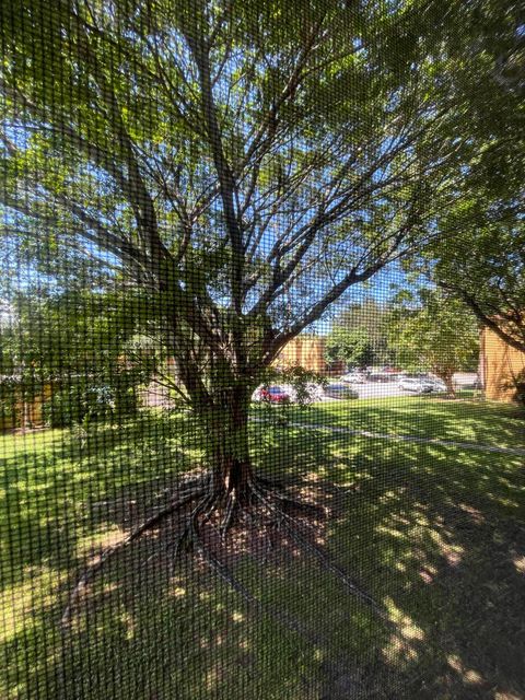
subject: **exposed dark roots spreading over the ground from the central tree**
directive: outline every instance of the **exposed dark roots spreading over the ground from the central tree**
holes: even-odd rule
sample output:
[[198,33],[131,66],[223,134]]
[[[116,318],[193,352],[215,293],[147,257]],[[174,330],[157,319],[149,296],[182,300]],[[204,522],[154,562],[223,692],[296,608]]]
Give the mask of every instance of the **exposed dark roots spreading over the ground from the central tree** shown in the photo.
[[[73,607],[79,600],[79,597],[109,559],[115,557],[128,545],[137,541],[147,532],[158,527],[162,521],[170,517],[173,513],[195,501],[197,501],[197,503],[189,514],[186,515],[182,530],[177,537],[165,547],[166,551],[173,549],[174,561],[183,550],[197,551],[202,560],[215,571],[221,579],[229,583],[232,588],[242,595],[249,605],[257,609],[266,610],[266,612],[285,625],[289,629],[298,631],[302,635],[313,640],[315,635],[307,631],[299,621],[275,609],[272,606],[262,604],[234,576],[231,569],[215,556],[212,548],[201,536],[202,526],[213,520],[212,527],[219,533],[221,541],[224,542],[228,532],[233,526],[240,526],[243,520],[248,521],[250,526],[260,525],[260,529],[266,536],[266,559],[270,549],[273,548],[271,530],[275,529],[278,532],[283,529],[299,549],[316,558],[322,567],[337,576],[353,596],[365,603],[383,620],[389,621],[385,611],[376,600],[365,591],[362,591],[355,581],[353,581],[343,569],[336,564],[322,547],[312,541],[312,539],[302,532],[305,526],[312,526],[308,525],[305,520],[299,522],[291,515],[291,512],[298,511],[310,514],[318,513],[320,510],[318,505],[298,501],[282,490],[278,490],[275,485],[266,479],[252,479],[248,482],[248,499],[246,500],[245,498],[241,503],[235,490],[230,491],[228,494],[218,492],[213,489],[213,482],[209,475],[191,479],[185,483],[184,489],[165,508],[161,509],[155,515],[152,515],[131,530],[129,535],[117,545],[105,549],[98,559],[91,564],[70,595],[69,604],[61,618],[62,626],[70,622]],[[261,513],[266,513],[266,516],[262,516]],[[313,534],[314,533],[315,529]]]

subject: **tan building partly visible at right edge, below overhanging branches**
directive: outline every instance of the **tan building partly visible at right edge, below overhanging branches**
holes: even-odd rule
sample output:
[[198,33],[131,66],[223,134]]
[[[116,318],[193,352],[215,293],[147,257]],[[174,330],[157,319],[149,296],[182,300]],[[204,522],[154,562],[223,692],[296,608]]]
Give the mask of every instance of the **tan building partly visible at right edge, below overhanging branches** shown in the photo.
[[525,394],[525,352],[509,346],[490,328],[483,328],[479,375],[488,399],[508,402],[520,400],[520,395]]

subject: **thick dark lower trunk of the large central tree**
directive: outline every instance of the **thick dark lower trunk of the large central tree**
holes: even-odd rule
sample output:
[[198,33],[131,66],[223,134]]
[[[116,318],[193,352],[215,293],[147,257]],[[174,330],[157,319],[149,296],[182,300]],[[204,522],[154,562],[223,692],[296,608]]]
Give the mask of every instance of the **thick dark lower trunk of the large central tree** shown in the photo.
[[213,395],[213,404],[200,416],[205,444],[217,493],[233,494],[238,503],[249,497],[252,460],[248,441],[250,389],[228,387]]

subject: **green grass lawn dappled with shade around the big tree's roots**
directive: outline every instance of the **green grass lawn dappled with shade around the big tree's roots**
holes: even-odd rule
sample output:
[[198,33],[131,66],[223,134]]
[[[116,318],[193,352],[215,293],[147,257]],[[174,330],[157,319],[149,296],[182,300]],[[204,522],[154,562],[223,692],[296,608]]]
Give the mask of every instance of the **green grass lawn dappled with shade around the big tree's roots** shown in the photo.
[[[327,402],[308,423],[523,447],[512,407],[439,399]],[[300,417],[300,418],[298,418]],[[147,412],[88,438],[0,436],[0,697],[67,700],[455,700],[525,697],[524,458],[254,423],[260,469],[322,491],[319,538],[383,621],[292,549],[240,553],[254,610],[168,526],[116,557],[66,628],[86,562],[199,460],[182,417]],[[2,686],[3,684],[3,686]]]

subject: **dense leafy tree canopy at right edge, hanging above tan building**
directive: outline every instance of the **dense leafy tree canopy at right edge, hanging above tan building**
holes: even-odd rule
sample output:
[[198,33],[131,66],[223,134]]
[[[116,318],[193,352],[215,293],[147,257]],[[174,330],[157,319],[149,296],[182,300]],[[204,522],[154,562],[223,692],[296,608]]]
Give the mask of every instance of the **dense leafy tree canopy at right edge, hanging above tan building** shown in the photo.
[[[417,267],[525,352],[525,32],[520,3],[504,13],[497,4],[465,9],[472,22],[457,47],[456,85],[477,152],[455,201],[432,221],[441,235]],[[459,60],[465,50],[472,60]]]

